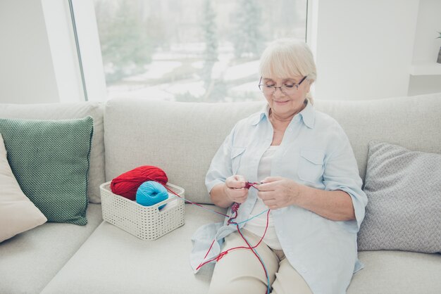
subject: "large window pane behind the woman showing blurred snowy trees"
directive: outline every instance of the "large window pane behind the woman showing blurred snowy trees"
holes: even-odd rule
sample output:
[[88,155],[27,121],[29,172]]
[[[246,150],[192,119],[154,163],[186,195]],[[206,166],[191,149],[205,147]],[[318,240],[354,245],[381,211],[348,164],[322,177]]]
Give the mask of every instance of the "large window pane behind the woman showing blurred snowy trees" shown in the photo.
[[261,100],[259,56],[306,37],[306,0],[94,0],[108,98]]

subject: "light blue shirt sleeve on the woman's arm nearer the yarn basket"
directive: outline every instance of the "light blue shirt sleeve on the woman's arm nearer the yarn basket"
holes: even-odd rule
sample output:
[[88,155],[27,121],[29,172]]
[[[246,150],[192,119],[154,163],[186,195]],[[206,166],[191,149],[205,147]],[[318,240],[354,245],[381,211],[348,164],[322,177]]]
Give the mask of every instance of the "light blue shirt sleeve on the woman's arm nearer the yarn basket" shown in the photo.
[[205,186],[209,192],[213,186],[225,183],[225,180],[232,176],[231,148],[234,134],[235,127],[225,138],[221,147],[219,147],[211,160],[211,165],[205,177]]

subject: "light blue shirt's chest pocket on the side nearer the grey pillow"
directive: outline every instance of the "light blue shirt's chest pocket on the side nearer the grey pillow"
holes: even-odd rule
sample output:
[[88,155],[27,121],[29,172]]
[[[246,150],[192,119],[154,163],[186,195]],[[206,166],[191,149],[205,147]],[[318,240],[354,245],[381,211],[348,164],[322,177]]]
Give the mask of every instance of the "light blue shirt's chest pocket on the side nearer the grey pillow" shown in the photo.
[[325,153],[321,151],[304,149],[300,151],[299,158],[299,179],[303,181],[317,182],[321,181],[324,166],[323,160]]

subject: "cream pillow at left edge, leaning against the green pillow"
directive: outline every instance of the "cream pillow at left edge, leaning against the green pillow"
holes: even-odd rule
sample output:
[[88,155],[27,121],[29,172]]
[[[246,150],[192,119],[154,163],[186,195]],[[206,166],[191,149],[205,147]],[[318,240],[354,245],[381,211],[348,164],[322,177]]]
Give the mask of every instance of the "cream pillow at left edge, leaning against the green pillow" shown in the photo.
[[6,158],[0,134],[0,242],[46,221],[42,212],[21,191]]

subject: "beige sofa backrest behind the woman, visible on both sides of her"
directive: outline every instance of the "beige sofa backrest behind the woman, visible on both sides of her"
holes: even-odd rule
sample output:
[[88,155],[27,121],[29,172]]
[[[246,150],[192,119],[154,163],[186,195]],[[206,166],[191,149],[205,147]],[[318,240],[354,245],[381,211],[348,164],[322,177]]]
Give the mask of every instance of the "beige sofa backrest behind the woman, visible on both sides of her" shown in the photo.
[[[106,180],[140,165],[161,167],[185,196],[211,203],[204,179],[211,158],[242,117],[264,102],[179,103],[136,98],[106,103]],[[441,94],[372,101],[316,101],[342,125],[364,179],[368,142],[441,153]]]

